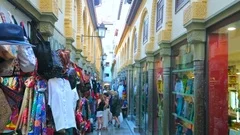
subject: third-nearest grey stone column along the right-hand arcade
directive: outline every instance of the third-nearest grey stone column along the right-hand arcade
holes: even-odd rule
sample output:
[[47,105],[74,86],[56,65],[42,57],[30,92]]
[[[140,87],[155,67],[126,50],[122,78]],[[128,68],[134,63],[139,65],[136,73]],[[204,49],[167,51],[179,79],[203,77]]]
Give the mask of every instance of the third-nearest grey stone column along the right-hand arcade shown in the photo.
[[147,53],[148,70],[148,134],[154,134],[154,121],[157,118],[157,91],[154,90],[154,55]]

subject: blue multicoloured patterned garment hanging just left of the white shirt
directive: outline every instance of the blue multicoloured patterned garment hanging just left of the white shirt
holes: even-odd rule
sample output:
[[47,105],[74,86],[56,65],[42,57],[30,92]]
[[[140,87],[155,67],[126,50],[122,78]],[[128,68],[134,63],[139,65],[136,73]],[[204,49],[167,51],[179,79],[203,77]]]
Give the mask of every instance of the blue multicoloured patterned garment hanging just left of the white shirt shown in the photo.
[[28,135],[47,135],[46,103],[44,95],[47,89],[46,81],[37,81],[35,88]]

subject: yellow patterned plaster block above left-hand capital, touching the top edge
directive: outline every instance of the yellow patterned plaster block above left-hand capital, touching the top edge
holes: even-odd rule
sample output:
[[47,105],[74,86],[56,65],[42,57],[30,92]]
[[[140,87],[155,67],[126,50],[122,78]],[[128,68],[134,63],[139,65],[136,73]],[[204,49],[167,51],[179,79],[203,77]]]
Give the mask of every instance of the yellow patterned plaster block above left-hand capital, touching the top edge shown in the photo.
[[58,16],[58,3],[56,0],[40,0],[39,8],[42,13],[53,13]]

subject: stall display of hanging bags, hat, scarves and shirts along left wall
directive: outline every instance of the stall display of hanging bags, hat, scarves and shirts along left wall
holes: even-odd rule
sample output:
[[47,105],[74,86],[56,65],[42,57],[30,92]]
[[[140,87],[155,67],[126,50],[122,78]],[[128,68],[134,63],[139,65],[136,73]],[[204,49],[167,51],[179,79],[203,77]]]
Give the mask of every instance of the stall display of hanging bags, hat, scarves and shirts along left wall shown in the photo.
[[0,15],[0,133],[91,132],[96,78],[70,60],[70,50],[53,50],[31,21]]

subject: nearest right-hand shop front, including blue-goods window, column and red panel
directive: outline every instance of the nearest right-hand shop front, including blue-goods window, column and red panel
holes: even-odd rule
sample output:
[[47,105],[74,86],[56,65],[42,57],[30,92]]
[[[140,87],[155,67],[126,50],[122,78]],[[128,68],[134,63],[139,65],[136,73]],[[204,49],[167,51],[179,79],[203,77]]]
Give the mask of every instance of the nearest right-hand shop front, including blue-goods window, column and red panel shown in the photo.
[[187,24],[188,33],[171,45],[170,134],[240,133],[240,12],[224,13],[212,25]]

